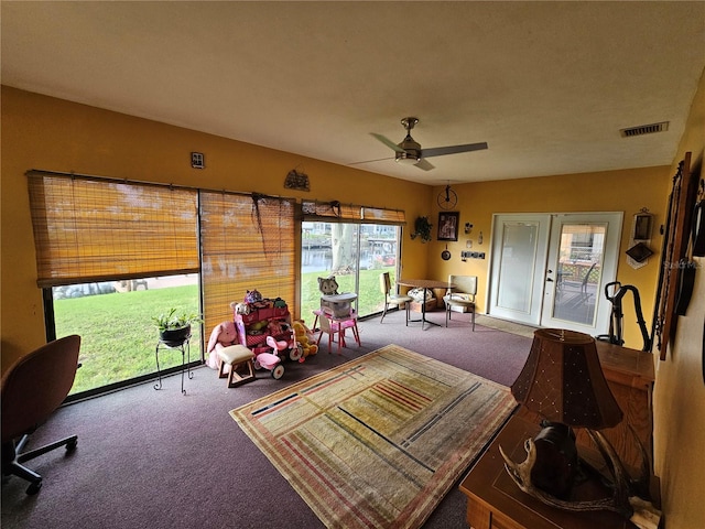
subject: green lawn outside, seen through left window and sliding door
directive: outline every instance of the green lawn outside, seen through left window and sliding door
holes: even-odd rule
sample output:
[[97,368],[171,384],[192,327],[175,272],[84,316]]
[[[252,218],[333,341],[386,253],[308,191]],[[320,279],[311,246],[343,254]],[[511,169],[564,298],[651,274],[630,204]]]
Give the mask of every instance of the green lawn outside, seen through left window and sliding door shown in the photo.
[[[379,274],[394,268],[360,271],[358,313],[364,316],[382,310],[384,296],[379,290]],[[317,278],[321,272],[302,277],[302,309],[299,314],[313,325],[313,310],[319,303]],[[336,278],[339,292],[355,291],[354,276]],[[54,301],[56,336],[82,336],[80,369],[76,373],[73,393],[128,380],[156,370],[154,349],[159,333],[152,316],[176,307],[178,312],[198,312],[198,287],[171,287],[123,293],[88,295]],[[200,328],[195,326],[191,339],[192,360],[200,358]],[[206,339],[209,330],[206,330]],[[181,352],[160,349],[160,367],[181,364]]]

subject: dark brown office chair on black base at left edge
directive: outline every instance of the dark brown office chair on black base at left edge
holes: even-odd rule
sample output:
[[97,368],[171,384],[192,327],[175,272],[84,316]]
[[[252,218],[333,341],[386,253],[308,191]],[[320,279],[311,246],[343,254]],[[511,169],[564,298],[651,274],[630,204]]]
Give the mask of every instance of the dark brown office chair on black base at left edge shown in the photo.
[[[40,347],[20,358],[2,377],[2,476],[30,482],[26,494],[42,488],[42,476],[25,461],[59,446],[76,449],[77,435],[22,453],[29,435],[62,404],[74,385],[78,368],[80,336],[70,335]],[[20,439],[20,441],[18,441]]]

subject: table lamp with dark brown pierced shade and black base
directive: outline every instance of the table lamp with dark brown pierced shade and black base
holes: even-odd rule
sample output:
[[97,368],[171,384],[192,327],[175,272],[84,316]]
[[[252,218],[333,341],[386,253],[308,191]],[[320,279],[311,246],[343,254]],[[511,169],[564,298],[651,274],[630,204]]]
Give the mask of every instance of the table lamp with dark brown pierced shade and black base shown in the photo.
[[595,339],[560,328],[534,332],[529,358],[511,387],[517,402],[543,419],[534,439],[532,483],[557,498],[570,495],[577,469],[573,427],[617,425],[622,411],[597,356]]

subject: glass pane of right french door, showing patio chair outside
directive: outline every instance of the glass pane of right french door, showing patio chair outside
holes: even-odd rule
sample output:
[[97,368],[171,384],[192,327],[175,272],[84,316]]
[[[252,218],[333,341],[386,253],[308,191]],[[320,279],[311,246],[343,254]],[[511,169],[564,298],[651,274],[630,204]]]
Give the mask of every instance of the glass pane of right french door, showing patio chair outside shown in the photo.
[[606,234],[607,224],[564,224],[561,227],[554,319],[595,325]]

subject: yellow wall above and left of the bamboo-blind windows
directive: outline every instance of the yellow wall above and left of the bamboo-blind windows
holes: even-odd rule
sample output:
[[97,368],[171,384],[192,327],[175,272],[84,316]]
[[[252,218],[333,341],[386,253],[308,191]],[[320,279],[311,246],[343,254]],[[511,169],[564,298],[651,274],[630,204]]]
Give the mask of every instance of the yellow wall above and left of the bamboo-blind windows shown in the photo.
[[[3,369],[45,342],[24,175],[30,169],[405,209],[411,227],[427,214],[426,185],[9,87],[1,101]],[[191,168],[192,151],[205,154],[205,170]],[[284,188],[292,169],[308,175],[311,192]],[[408,277],[425,277],[426,247],[404,237],[402,262]]]

